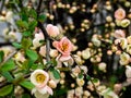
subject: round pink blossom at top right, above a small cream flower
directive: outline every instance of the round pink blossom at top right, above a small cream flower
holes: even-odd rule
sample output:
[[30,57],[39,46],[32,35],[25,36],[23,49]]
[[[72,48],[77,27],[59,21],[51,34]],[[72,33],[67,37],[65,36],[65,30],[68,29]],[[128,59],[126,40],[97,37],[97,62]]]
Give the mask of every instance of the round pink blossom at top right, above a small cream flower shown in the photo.
[[123,9],[118,9],[116,12],[115,12],[115,17],[117,20],[122,20],[126,17],[126,11]]

